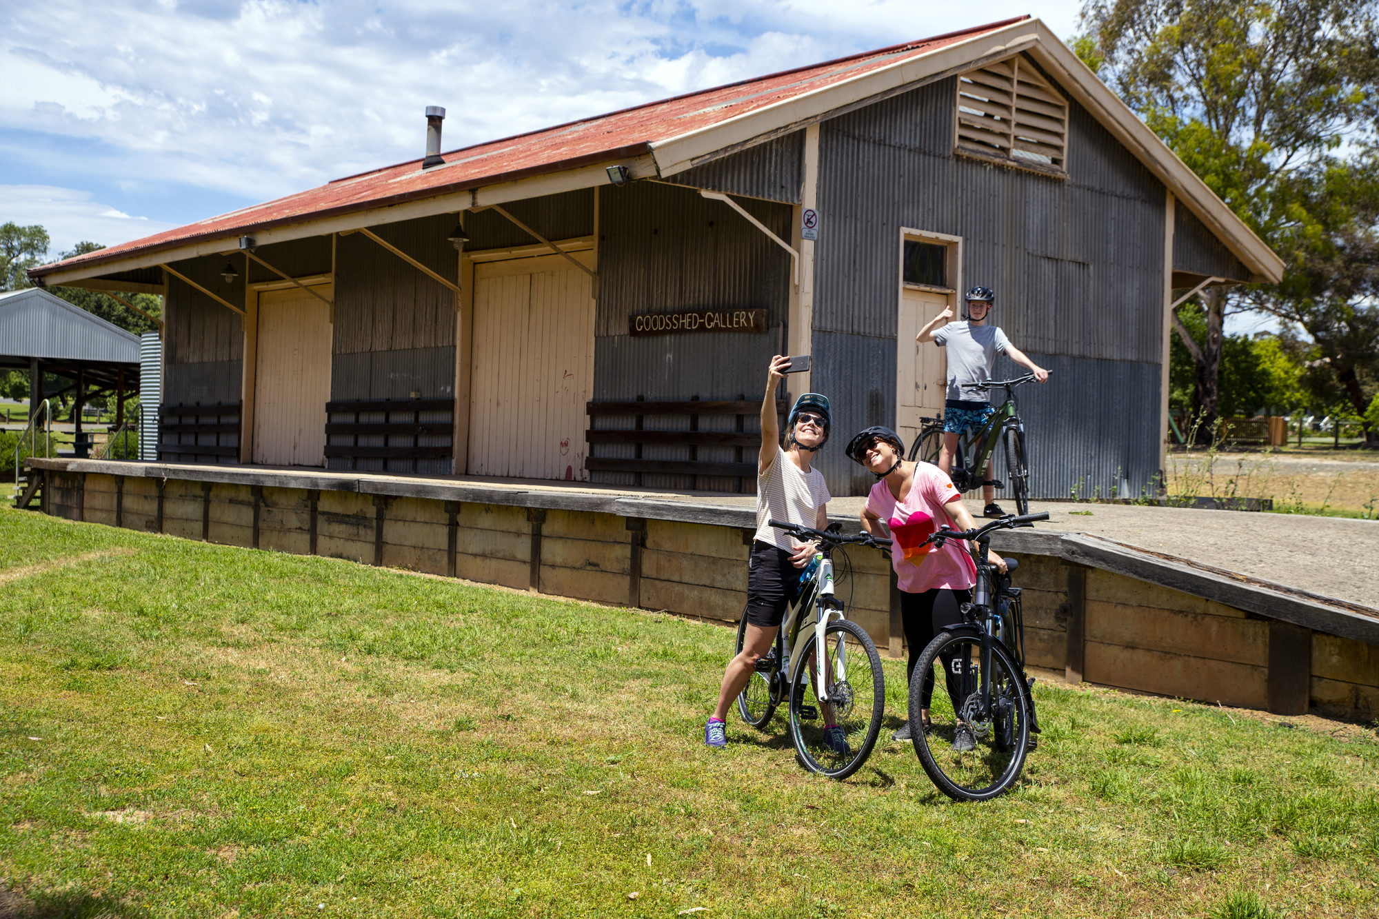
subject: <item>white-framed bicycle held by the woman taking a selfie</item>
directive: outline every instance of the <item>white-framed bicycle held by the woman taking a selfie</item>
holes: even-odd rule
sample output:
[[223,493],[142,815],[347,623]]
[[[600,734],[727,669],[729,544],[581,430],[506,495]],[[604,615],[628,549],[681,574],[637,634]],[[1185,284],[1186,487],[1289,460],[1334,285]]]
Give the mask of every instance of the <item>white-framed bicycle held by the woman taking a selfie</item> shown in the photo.
[[[790,740],[800,762],[829,778],[847,778],[872,755],[881,733],[885,675],[876,644],[860,625],[848,621],[843,602],[833,593],[833,551],[849,544],[885,549],[891,541],[867,533],[843,535],[837,523],[827,530],[782,520],[771,520],[771,526],[804,542],[818,541],[819,551],[814,570],[801,578],[772,651],[757,661],[750,682],[738,694],[738,713],[752,727],[763,729],[789,698]],[[738,653],[746,633],[743,610]],[[849,644],[855,647],[849,650]]]

